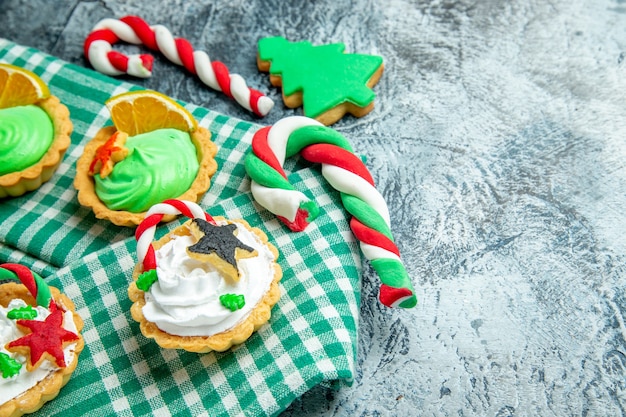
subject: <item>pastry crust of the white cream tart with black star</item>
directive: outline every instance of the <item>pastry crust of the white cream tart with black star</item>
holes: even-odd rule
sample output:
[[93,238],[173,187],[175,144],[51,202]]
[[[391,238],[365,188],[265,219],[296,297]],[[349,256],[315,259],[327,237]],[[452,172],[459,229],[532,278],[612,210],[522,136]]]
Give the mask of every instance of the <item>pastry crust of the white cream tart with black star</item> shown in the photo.
[[[215,217],[216,221],[224,221],[223,217]],[[188,222],[190,222],[189,220]],[[187,223],[188,223],[187,222]],[[278,282],[282,278],[282,269],[276,263],[278,258],[278,250],[274,245],[268,242],[267,235],[256,227],[251,227],[248,222],[241,219],[226,220],[227,223],[240,223],[244,225],[248,230],[253,232],[262,242],[266,245],[272,254],[274,255],[274,278],[270,284],[269,290],[265,293],[263,298],[258,304],[250,311],[250,313],[234,327],[221,333],[214,334],[212,336],[177,336],[166,333],[159,329],[156,324],[148,321],[142,312],[143,307],[146,305],[144,292],[137,288],[136,281],[139,275],[143,272],[141,263],[138,263],[133,270],[133,282],[128,287],[128,296],[133,301],[133,305],[130,309],[131,316],[137,322],[139,322],[139,328],[144,336],[154,339],[159,346],[165,349],[184,349],[189,352],[206,353],[210,351],[223,352],[228,350],[234,345],[245,342],[255,331],[260,329],[265,323],[268,322],[271,316],[272,307],[278,302],[280,298],[280,289],[278,288]],[[170,234],[163,236],[161,239],[153,243],[154,249],[157,250],[168,241],[171,236],[186,235],[188,234],[186,223],[182,226],[174,229]]]

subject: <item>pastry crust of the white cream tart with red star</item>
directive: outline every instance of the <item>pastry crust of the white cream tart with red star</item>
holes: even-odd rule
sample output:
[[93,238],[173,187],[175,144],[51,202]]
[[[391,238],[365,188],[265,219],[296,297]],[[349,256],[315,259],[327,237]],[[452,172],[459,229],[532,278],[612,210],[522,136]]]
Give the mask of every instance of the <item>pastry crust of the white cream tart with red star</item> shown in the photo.
[[[60,368],[50,373],[28,391],[0,405],[0,417],[18,417],[39,410],[46,402],[54,399],[59,394],[61,388],[67,384],[76,369],[78,356],[85,346],[83,337],[80,334],[83,329],[83,321],[76,313],[74,303],[67,296],[61,294],[54,287],[50,287],[50,292],[52,293],[52,298],[61,309],[72,312],[74,323],[78,330],[78,340],[75,342],[76,347],[74,348],[74,360],[68,363],[65,368]],[[16,298],[24,300],[28,305],[36,305],[35,299],[24,285],[14,282],[0,284],[0,305],[7,307],[9,302]]]

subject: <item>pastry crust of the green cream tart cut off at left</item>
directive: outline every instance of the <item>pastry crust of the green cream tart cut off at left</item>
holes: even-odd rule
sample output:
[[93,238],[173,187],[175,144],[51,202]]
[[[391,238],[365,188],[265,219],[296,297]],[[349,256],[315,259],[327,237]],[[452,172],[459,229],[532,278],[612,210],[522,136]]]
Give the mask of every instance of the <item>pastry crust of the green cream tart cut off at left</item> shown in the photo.
[[50,116],[54,125],[54,139],[37,163],[21,171],[0,175],[0,198],[18,197],[39,188],[52,177],[70,146],[70,135],[74,126],[67,107],[55,96],[43,99],[36,105]]

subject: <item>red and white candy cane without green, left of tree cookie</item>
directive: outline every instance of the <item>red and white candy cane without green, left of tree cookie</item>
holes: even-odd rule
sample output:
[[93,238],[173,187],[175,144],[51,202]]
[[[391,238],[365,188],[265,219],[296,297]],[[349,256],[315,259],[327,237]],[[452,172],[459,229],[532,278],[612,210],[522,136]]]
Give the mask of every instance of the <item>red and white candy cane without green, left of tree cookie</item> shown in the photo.
[[274,106],[272,99],[249,88],[240,75],[230,74],[223,63],[211,62],[206,52],[194,51],[188,40],[174,38],[165,26],[151,27],[138,16],[103,19],[87,36],[84,53],[97,71],[107,75],[126,73],[135,77],[150,77],[154,58],[147,54],[127,56],[112,51],[111,45],[120,39],[160,51],[173,63],[197,75],[204,84],[223,92],[258,116],[265,116]]

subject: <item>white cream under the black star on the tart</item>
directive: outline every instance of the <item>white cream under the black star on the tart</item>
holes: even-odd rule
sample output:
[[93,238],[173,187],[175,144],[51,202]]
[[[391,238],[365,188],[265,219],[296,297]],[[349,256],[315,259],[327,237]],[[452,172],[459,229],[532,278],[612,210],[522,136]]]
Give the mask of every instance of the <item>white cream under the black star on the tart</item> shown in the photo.
[[[225,279],[210,264],[190,258],[186,249],[195,243],[194,238],[172,235],[156,251],[158,281],[145,293],[142,309],[148,321],[177,336],[212,336],[233,328],[250,314],[274,279],[274,255],[258,236],[235,224],[237,237],[258,253],[238,260],[239,281]],[[219,300],[223,294],[243,294],[245,306],[230,311]]]

